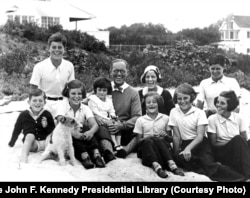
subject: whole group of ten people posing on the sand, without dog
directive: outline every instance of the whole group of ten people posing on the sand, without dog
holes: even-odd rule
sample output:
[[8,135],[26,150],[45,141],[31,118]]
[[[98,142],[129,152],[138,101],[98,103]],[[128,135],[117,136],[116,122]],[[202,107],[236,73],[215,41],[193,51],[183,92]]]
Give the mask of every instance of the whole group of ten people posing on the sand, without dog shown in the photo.
[[28,162],[29,152],[44,151],[67,116],[79,124],[72,144],[85,169],[105,168],[136,152],[161,178],[168,170],[179,176],[193,171],[214,181],[250,179],[248,126],[238,113],[240,86],[223,74],[230,64],[225,56],[210,58],[211,77],[200,83],[199,93],[183,83],[172,96],[160,86],[162,75],[154,65],[145,68],[140,78],[145,86],[137,91],[126,82],[128,62],[115,59],[111,80],[97,78],[87,96],[73,64],[63,58],[65,46],[64,35],[51,35],[50,57],[34,66],[29,109],[18,116],[9,141],[14,146],[23,133],[20,163]]

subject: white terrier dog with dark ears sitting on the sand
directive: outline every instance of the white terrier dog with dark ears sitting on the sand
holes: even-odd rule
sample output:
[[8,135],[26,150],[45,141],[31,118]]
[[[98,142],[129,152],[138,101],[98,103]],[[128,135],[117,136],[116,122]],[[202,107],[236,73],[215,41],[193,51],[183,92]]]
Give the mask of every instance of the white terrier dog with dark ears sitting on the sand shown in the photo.
[[49,143],[42,153],[41,162],[48,159],[51,154],[56,154],[58,155],[61,166],[66,165],[65,156],[69,156],[70,163],[76,165],[72,134],[79,133],[79,131],[80,126],[75,119],[63,116],[51,135],[48,136],[49,139],[47,141],[49,141]]

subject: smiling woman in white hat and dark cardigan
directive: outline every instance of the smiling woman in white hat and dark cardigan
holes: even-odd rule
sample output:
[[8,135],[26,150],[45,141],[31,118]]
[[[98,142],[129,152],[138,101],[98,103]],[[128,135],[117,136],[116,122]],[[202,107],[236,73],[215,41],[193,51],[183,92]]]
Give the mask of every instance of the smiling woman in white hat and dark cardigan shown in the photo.
[[159,112],[169,115],[172,108],[175,107],[172,96],[169,91],[163,89],[158,85],[161,82],[161,73],[158,67],[154,65],[149,65],[145,68],[142,76],[141,83],[146,84],[146,86],[139,90],[139,96],[142,105],[142,115],[146,114],[146,105],[144,97],[148,92],[156,92],[162,96],[164,103],[159,104]]

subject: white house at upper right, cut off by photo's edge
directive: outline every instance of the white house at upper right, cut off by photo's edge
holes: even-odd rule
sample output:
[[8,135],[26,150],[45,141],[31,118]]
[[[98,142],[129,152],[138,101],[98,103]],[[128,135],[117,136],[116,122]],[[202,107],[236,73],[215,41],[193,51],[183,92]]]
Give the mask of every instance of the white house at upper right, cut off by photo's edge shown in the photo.
[[219,28],[218,47],[250,55],[250,16],[230,15]]

